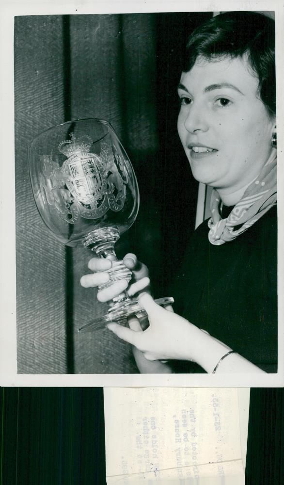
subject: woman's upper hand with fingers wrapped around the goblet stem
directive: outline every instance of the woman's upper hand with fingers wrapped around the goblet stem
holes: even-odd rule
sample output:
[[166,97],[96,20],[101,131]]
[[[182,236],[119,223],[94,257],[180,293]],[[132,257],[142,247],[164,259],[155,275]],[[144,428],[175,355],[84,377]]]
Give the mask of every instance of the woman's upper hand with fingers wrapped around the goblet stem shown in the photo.
[[[135,254],[128,253],[123,259],[124,264],[132,271],[132,278],[130,284],[122,279],[116,281],[109,288],[98,291],[97,299],[100,302],[108,302],[115,296],[127,290],[128,296],[133,296],[140,291],[150,292],[150,280],[148,268],[138,261]],[[80,279],[80,284],[84,288],[95,288],[110,280],[110,275],[107,271],[111,268],[112,263],[110,259],[92,258],[88,263],[93,274],[84,275]]]

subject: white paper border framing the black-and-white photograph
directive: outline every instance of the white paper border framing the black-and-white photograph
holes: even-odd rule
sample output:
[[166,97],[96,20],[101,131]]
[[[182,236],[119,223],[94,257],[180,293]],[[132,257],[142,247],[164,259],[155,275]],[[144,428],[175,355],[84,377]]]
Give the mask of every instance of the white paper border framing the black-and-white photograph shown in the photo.
[[0,385],[3,387],[283,387],[284,386],[284,137],[278,136],[278,373],[276,374],[17,374],[14,168],[14,17],[187,11],[275,11],[277,129],[284,133],[284,5],[266,1],[2,2],[0,6]]

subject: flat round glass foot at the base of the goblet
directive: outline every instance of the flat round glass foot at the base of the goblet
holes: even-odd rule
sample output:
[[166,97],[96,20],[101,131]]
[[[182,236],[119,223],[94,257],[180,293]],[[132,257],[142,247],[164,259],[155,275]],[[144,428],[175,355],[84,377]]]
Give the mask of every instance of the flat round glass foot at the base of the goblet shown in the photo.
[[[165,307],[167,305],[172,305],[172,303],[174,303],[174,298],[158,298],[157,300],[155,300],[155,302],[161,307]],[[143,310],[143,308],[140,307],[137,301],[127,300],[118,302],[117,304],[115,304],[115,306],[110,307],[106,315],[101,318],[92,320],[86,325],[81,326],[80,328],[78,328],[78,332],[95,332],[96,330],[101,330],[102,328],[105,328],[106,324],[111,322],[118,323],[119,325],[126,325],[127,318],[131,315],[142,318],[147,316],[147,313],[145,312],[145,310]]]

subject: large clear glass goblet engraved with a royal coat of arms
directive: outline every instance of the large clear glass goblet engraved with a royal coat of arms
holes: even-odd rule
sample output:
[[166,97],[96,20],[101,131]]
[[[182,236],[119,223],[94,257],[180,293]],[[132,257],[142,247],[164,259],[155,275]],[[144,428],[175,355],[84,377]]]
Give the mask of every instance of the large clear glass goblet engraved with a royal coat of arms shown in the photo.
[[[89,118],[47,129],[29,147],[29,170],[36,206],[54,236],[112,261],[110,280],[99,289],[130,281],[131,271],[117,259],[114,245],[137,217],[139,189],[110,123]],[[156,300],[163,306],[173,301]],[[78,330],[98,330],[112,321],[126,324],[133,314],[143,317],[145,311],[124,291],[113,298],[106,315]]]

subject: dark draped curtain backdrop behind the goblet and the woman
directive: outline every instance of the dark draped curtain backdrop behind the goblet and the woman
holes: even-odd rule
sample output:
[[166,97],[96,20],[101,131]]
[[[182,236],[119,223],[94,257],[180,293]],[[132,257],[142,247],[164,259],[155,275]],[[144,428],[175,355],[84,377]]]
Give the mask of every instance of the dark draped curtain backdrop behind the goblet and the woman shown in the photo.
[[76,118],[112,124],[134,166],[141,207],[117,243],[150,269],[155,297],[181,264],[197,184],[176,132],[183,48],[210,13],[15,18],[16,279],[19,373],[135,373],[128,344],[77,328],[107,306],[79,285],[91,252],[65,248],[32,197],[27,146]]

